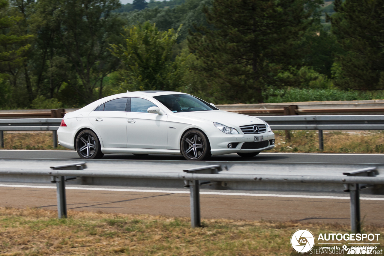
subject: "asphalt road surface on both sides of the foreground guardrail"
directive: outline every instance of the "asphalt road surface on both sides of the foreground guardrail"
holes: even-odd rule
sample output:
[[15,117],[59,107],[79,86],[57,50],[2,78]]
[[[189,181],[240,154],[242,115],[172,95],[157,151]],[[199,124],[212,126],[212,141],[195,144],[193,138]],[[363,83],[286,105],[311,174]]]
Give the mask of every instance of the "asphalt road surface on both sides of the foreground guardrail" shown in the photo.
[[[79,159],[77,153],[70,150],[0,150],[1,158]],[[136,157],[132,154],[111,154],[104,155],[103,159],[183,160],[184,158],[173,155]],[[250,159],[230,154],[212,157],[210,160],[381,164],[384,163],[384,155],[261,153]],[[36,187],[39,185],[41,187]],[[39,207],[56,210],[56,190],[53,184],[22,184],[21,186],[27,187],[20,187],[20,183],[0,183],[2,195],[0,207]],[[123,187],[121,190],[119,187],[108,189],[108,187],[68,184],[66,190],[68,209],[180,217],[189,217],[190,214],[189,192],[182,188],[133,188],[135,191],[129,190],[129,187]],[[224,195],[220,194],[222,191],[207,191],[211,194],[200,194],[202,218],[350,223],[348,193],[229,191],[230,193]],[[384,225],[384,196],[362,195],[361,197],[366,197],[360,201],[361,218],[364,218],[364,223]]]

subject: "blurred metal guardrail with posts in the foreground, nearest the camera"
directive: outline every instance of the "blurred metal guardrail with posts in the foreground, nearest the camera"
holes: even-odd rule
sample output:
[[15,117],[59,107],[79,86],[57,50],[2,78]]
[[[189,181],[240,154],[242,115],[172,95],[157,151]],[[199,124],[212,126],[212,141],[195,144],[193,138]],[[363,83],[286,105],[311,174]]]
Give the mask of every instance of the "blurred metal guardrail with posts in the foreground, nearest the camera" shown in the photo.
[[[11,161],[11,160],[9,160]],[[133,164],[138,164],[136,161],[131,161]],[[147,161],[148,162],[148,161]],[[147,163],[146,162],[146,163]],[[153,162],[153,161],[152,161]],[[156,162],[156,161],[154,161]],[[175,165],[179,166],[180,163],[169,165],[171,170],[175,169]],[[180,161],[181,162],[181,161]],[[92,162],[89,162],[92,164]],[[115,162],[119,165],[119,162]],[[185,162],[184,162],[185,163]],[[344,192],[350,193],[351,198],[351,231],[352,233],[360,233],[360,206],[359,206],[359,190],[372,186],[373,184],[384,184],[383,176],[376,176],[379,170],[382,171],[382,165],[378,167],[366,167],[357,170],[351,169],[355,165],[350,166],[348,172],[338,173],[338,175],[275,175],[275,174],[260,174],[255,173],[255,166],[258,164],[253,163],[253,168],[250,164],[244,164],[241,173],[227,173],[233,168],[238,168],[236,165],[224,166],[222,164],[212,164],[201,166],[206,162],[198,162],[200,165],[194,168],[184,169],[182,172],[162,172],[162,171],[124,171],[116,170],[115,168],[106,168],[99,170],[84,170],[87,168],[86,162],[71,163],[65,165],[51,166],[51,170],[42,168],[0,168],[0,180],[12,176],[14,179],[22,182],[23,176],[45,176],[51,177],[51,182],[56,183],[57,200],[58,200],[58,218],[66,218],[66,196],[65,196],[65,182],[67,180],[83,179],[85,178],[108,178],[129,179],[136,182],[135,186],[143,187],[140,182],[142,179],[156,182],[156,180],[180,180],[184,182],[184,187],[190,189],[190,214],[192,227],[200,226],[200,197],[199,189],[203,185],[222,186],[222,189],[231,189],[226,187],[227,182],[231,183],[253,183],[256,186],[260,183],[336,183],[343,184]],[[7,164],[7,162],[5,162]],[[145,164],[145,163],[144,163]],[[155,163],[153,163],[155,164]],[[287,163],[284,163],[287,165]],[[196,165],[196,163],[195,163]],[[273,164],[282,166],[281,163]],[[295,165],[291,163],[290,165]],[[343,164],[344,166],[345,164]],[[272,166],[272,164],[270,164]],[[369,166],[369,165],[367,165]],[[332,165],[328,165],[332,167]],[[339,165],[334,165],[334,168],[340,168]],[[329,170],[328,170],[329,171]],[[15,178],[17,177],[17,178]],[[180,183],[178,183],[180,184]],[[368,185],[369,184],[369,185]],[[105,184],[104,184],[105,185]],[[167,187],[167,186],[164,186]],[[173,187],[173,186],[171,186]]]

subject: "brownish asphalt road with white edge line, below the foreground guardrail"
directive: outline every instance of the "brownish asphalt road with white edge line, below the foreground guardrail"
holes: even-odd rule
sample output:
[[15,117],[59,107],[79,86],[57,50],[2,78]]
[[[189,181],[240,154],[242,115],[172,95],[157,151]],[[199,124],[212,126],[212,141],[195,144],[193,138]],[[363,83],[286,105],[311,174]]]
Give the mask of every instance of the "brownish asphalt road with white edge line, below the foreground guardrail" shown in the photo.
[[[10,184],[10,183],[8,183]],[[20,183],[17,185],[20,186]],[[16,208],[37,207],[56,210],[56,187],[52,184],[30,184],[31,187],[0,185],[0,206]],[[12,187],[14,186],[14,187]],[[100,188],[100,187],[99,187]],[[119,187],[113,187],[118,190]],[[136,191],[108,191],[105,187],[68,185],[66,189],[68,210],[103,211],[107,213],[150,214],[189,217],[189,192],[159,188],[139,188]],[[208,190],[207,190],[208,191]],[[201,190],[202,218],[227,218],[235,220],[271,220],[299,222],[327,222],[349,224],[349,197],[345,195],[305,193],[251,192],[204,194]],[[213,190],[209,190],[212,193]],[[231,191],[233,192],[233,191]],[[331,197],[329,197],[331,195]],[[307,195],[308,196],[308,195]],[[340,197],[341,196],[341,197]],[[364,195],[370,200],[361,200],[361,217],[365,224],[384,225],[383,196]],[[71,213],[69,212],[69,215]]]

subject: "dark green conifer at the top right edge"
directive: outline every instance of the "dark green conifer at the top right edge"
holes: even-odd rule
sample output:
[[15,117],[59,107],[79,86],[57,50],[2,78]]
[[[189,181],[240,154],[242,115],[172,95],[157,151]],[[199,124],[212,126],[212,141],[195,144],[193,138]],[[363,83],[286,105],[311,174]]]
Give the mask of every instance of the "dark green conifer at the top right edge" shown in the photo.
[[346,51],[337,55],[334,83],[354,90],[384,89],[384,0],[334,1],[332,33]]

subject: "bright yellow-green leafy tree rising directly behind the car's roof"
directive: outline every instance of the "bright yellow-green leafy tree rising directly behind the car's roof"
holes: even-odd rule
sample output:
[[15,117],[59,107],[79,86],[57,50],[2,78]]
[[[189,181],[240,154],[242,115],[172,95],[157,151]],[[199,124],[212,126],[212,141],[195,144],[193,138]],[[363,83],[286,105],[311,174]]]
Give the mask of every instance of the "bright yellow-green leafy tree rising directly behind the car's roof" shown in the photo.
[[172,61],[172,47],[180,28],[161,32],[149,22],[125,28],[124,44],[110,45],[113,55],[123,63],[124,81],[120,91],[172,91],[182,86],[188,54],[183,53],[177,61]]

